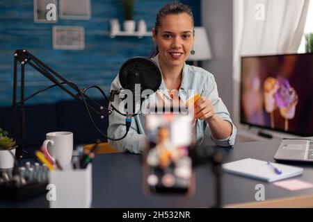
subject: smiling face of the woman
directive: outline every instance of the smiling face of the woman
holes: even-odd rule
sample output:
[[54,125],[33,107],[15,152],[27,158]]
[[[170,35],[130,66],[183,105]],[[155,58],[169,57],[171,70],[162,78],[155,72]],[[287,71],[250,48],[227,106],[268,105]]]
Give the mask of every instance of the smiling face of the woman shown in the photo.
[[182,67],[195,41],[191,17],[180,13],[161,18],[157,35],[153,30],[153,41],[159,47],[161,65]]

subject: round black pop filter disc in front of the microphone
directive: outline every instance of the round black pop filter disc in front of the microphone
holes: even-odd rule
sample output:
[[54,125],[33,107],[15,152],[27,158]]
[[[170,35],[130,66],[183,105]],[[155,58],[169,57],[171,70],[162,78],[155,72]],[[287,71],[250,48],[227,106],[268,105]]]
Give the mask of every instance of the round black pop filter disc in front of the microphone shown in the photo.
[[157,64],[149,58],[135,57],[127,60],[119,72],[120,84],[124,89],[135,89],[141,85],[141,91],[152,89],[156,92],[162,81],[161,71]]

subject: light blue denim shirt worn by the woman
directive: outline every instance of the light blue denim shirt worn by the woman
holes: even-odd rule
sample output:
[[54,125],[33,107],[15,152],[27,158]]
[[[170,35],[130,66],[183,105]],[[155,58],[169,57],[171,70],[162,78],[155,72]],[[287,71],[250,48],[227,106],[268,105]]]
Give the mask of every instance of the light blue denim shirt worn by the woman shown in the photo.
[[[154,60],[154,62],[156,62],[159,66],[159,55],[152,58],[152,60]],[[120,89],[121,87],[120,80],[118,79],[118,76],[116,76],[111,85],[111,89]],[[186,101],[186,99],[190,97],[188,95],[188,89],[193,89],[194,93],[200,93],[201,96],[211,100],[214,105],[214,111],[218,117],[232,123],[230,113],[227,111],[222,99],[218,96],[216,81],[211,73],[200,67],[186,65],[185,63],[182,71],[182,84],[180,85],[178,91],[179,99]],[[171,100],[168,90],[166,89],[166,85],[163,82],[163,78],[159,87],[159,92],[161,92],[166,99],[169,101]],[[148,99],[155,98],[153,98],[152,95]],[[119,107],[120,102],[120,99],[115,98],[113,105],[115,105],[115,107]],[[112,141],[109,139],[109,144],[111,144],[114,148],[118,148],[120,151],[141,153],[146,146],[144,119],[144,114],[138,114],[136,117],[133,117],[133,121],[131,121],[131,128],[129,129],[127,136],[119,141]],[[113,113],[109,116],[108,136],[116,139],[125,135],[125,132],[125,117],[113,111]],[[236,137],[236,127],[234,126],[234,123],[232,123],[232,134],[230,137],[227,137],[226,139],[214,139],[214,137],[211,136],[211,131],[207,121],[197,119],[195,123],[195,139],[196,141],[199,139],[202,139],[203,141],[204,137],[211,138],[218,146],[232,146],[234,145]]]

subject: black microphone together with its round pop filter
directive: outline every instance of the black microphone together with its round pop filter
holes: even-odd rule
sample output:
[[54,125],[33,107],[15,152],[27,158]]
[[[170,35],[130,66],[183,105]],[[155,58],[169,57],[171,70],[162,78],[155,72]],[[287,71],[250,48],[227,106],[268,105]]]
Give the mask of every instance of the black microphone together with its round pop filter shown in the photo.
[[[141,94],[144,90],[150,89],[154,93],[159,89],[162,81],[162,75],[157,64],[150,58],[135,57],[127,60],[119,72],[119,80],[123,89],[129,89],[131,92],[131,101],[127,103],[129,113],[135,114],[141,110],[141,103],[150,94]],[[127,95],[128,97],[129,95]]]

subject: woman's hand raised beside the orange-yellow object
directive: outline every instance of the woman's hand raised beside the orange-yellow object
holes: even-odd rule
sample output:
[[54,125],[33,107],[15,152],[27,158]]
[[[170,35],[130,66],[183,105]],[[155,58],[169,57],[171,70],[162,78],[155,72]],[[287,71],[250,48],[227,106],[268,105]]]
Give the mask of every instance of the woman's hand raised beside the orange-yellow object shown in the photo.
[[209,121],[215,115],[214,106],[212,105],[211,101],[202,96],[200,97],[200,99],[198,99],[193,108],[194,119]]

